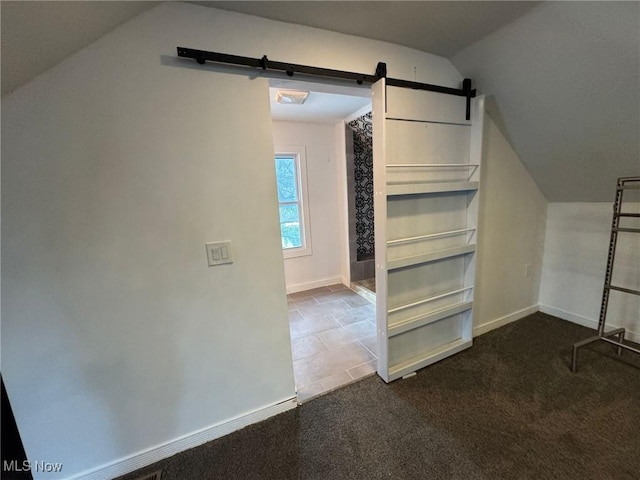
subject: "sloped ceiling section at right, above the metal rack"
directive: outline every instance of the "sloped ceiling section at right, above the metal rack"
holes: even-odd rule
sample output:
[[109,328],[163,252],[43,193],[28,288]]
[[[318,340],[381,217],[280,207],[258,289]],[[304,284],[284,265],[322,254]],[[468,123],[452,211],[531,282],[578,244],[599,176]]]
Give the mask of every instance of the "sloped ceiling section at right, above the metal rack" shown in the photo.
[[640,175],[640,3],[545,3],[451,60],[549,201],[613,201]]

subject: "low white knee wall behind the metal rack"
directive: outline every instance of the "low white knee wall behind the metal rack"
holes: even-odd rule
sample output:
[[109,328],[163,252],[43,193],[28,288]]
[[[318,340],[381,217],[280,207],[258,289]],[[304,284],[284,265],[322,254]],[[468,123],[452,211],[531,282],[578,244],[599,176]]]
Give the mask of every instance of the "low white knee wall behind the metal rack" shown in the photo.
[[[615,183],[611,186],[612,196]],[[596,328],[607,267],[613,201],[550,203],[540,286],[540,309]],[[640,203],[624,211],[640,213]],[[624,220],[624,219],[623,219]],[[622,226],[622,225],[621,225]],[[637,228],[637,222],[636,222]],[[620,232],[612,284],[640,290],[640,235]],[[608,327],[625,327],[640,341],[640,297],[612,291]]]

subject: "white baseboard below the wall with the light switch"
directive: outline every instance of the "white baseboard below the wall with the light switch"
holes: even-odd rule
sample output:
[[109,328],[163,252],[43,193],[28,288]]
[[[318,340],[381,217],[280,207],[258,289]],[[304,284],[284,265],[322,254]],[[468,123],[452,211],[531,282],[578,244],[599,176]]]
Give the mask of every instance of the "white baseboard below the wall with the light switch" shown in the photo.
[[255,410],[246,415],[184,435],[165,444],[149,448],[96,469],[68,477],[67,480],[111,480],[112,478],[120,477],[140,468],[152,465],[177,453],[184,452],[190,448],[197,447],[210,442],[211,440],[228,435],[253,423],[261,422],[262,420],[266,420],[267,418],[278,415],[279,413],[294,409],[297,406],[297,398],[293,397],[283,402],[276,403],[275,405]]

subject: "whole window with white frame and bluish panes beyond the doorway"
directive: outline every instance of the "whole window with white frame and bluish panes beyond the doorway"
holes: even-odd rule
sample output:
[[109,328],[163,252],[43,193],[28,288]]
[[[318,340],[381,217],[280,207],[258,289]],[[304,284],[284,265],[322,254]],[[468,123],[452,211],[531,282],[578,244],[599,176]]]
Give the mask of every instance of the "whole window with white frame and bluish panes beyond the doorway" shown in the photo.
[[278,148],[275,161],[284,257],[311,255],[304,147]]

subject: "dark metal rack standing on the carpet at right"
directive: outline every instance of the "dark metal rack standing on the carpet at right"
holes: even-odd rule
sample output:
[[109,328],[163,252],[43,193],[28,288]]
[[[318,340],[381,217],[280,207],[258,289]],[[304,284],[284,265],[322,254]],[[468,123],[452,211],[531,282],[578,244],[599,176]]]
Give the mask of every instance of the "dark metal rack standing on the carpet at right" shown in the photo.
[[[639,353],[640,350],[624,343],[624,328],[616,328],[605,332],[605,324],[607,318],[607,308],[609,306],[609,293],[615,290],[631,295],[640,295],[639,290],[625,288],[611,284],[611,276],[613,274],[613,264],[616,257],[616,246],[618,243],[618,233],[640,233],[640,228],[620,227],[621,218],[640,218],[640,213],[622,212],[622,196],[625,190],[640,190],[640,177],[622,177],[618,178],[616,187],[616,200],[613,204],[613,221],[611,224],[611,240],[609,242],[609,256],[607,258],[607,270],[604,278],[604,288],[602,292],[602,305],[600,307],[600,318],[598,320],[598,333],[593,337],[581,340],[573,344],[573,354],[571,357],[571,371],[576,372],[578,369],[578,350],[585,345],[602,340],[603,342],[615,345],[618,355],[622,354],[622,349]],[[614,339],[616,338],[617,339]]]

